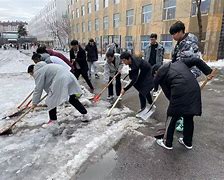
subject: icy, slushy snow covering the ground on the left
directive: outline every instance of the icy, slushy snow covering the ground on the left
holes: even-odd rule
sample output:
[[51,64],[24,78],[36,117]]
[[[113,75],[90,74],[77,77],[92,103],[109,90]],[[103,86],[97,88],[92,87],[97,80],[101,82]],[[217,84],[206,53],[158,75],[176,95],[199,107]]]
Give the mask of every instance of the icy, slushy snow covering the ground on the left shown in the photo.
[[[0,50],[0,117],[33,90],[34,80],[26,73],[29,64],[30,57],[19,51]],[[0,136],[0,179],[75,179],[91,158],[100,158],[140,126],[126,107],[115,108],[107,117],[108,102],[81,101],[87,104],[89,123],[82,123],[79,112],[64,104],[58,108],[58,125],[43,128],[48,113],[41,107],[27,114],[12,135]],[[0,120],[0,128],[13,120]]]

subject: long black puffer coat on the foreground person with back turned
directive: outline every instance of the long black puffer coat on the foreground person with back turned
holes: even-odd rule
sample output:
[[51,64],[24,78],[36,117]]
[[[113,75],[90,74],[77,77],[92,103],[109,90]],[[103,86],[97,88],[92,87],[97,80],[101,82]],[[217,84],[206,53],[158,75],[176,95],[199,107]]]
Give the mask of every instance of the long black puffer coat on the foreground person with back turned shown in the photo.
[[155,90],[160,84],[170,101],[167,110],[168,116],[200,116],[202,113],[201,90],[189,69],[192,66],[196,66],[205,75],[212,72],[212,69],[204,61],[192,58],[167,63],[158,70],[155,76]]

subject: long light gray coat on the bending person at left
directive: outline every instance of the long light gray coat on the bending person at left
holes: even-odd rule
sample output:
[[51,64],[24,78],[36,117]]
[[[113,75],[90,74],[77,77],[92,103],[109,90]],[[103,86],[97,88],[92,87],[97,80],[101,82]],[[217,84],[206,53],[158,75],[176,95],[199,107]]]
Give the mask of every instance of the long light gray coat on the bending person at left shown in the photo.
[[82,94],[80,85],[75,76],[58,64],[46,64],[41,61],[34,66],[35,89],[33,104],[38,104],[42,91],[48,94],[46,104],[48,109],[53,109],[73,94]]

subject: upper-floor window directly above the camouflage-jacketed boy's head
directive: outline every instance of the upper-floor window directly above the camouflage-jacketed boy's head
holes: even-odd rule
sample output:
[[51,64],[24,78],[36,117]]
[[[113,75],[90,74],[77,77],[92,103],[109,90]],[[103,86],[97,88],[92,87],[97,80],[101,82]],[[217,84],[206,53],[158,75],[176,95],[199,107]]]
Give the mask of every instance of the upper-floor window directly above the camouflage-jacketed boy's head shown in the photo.
[[175,19],[176,0],[163,1],[163,20]]

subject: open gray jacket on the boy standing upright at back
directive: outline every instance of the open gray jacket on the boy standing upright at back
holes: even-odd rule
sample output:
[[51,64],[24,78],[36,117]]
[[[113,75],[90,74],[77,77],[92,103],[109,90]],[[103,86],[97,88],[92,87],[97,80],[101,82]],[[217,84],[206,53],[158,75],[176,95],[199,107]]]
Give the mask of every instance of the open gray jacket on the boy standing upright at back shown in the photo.
[[[164,48],[161,44],[158,44],[158,47],[156,48],[156,64],[155,65],[163,65],[163,56],[164,56]],[[151,54],[151,44],[146,46],[144,51],[144,60],[148,61]]]

